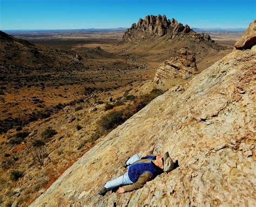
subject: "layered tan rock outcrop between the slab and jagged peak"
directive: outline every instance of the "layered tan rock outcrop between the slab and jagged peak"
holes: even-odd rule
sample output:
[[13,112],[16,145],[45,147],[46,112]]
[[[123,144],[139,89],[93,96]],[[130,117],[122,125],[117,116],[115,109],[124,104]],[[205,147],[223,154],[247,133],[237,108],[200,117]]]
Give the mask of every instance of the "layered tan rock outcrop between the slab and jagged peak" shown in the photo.
[[188,79],[198,73],[196,56],[192,51],[180,49],[179,55],[164,61],[158,67],[154,81],[157,84],[164,84],[172,78]]

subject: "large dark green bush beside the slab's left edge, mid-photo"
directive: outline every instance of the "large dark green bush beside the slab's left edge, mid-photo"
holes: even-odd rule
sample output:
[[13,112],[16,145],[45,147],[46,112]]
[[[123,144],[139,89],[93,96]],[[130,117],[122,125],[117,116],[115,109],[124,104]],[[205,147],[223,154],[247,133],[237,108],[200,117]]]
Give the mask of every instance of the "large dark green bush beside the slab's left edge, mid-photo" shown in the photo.
[[103,127],[105,130],[111,130],[116,128],[118,125],[124,123],[123,110],[116,110],[107,113],[99,121],[98,125]]

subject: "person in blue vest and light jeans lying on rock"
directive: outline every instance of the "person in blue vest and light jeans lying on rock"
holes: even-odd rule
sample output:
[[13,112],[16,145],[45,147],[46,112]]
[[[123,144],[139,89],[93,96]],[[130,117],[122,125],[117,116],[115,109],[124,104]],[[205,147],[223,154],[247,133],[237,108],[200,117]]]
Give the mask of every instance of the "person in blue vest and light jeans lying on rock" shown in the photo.
[[117,179],[106,182],[99,190],[99,195],[104,196],[107,191],[117,187],[119,187],[118,194],[142,188],[147,181],[154,179],[157,175],[163,172],[169,173],[173,169],[174,163],[169,152],[164,155],[145,156],[142,159],[135,154],[131,158],[125,159],[124,167],[128,167],[128,172]]

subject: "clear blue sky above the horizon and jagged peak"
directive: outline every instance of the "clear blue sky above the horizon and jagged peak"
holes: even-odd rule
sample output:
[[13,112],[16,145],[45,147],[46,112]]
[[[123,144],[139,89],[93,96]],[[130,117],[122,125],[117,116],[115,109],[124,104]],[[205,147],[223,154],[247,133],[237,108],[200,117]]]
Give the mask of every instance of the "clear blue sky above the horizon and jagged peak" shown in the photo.
[[255,0],[0,0],[0,30],[130,27],[165,14],[199,28],[246,28]]

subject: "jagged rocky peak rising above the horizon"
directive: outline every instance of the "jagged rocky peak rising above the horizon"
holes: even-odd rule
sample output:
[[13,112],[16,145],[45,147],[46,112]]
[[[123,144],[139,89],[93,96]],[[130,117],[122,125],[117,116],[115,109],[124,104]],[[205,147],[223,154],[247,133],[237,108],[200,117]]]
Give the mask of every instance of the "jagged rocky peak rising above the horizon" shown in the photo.
[[165,15],[147,15],[144,20],[140,18],[137,24],[133,23],[131,28],[125,31],[123,41],[137,41],[147,35],[166,36],[167,39],[189,36],[194,40],[214,42],[209,35],[196,33],[188,25],[183,26],[173,18],[167,19]]

